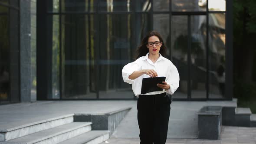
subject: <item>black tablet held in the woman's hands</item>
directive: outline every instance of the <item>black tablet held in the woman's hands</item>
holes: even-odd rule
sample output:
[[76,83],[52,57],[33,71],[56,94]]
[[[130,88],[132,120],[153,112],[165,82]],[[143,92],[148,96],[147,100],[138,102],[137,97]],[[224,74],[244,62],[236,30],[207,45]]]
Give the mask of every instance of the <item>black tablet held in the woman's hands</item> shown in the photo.
[[157,84],[163,84],[165,82],[165,77],[154,77],[154,78],[143,78],[141,85],[141,94],[146,94],[148,92],[162,91]]

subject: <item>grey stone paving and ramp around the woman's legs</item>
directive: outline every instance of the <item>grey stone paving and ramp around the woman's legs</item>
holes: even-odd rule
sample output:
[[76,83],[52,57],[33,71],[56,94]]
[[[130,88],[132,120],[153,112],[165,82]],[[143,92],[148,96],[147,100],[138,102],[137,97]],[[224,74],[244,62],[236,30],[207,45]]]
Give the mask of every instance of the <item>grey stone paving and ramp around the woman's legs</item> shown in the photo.
[[[221,140],[197,139],[197,111],[204,105],[236,106],[236,101],[173,101],[166,144],[256,144],[256,128],[223,127]],[[132,109],[107,141],[139,144],[137,101],[36,101],[0,105],[0,129],[72,113],[102,114],[127,107]]]

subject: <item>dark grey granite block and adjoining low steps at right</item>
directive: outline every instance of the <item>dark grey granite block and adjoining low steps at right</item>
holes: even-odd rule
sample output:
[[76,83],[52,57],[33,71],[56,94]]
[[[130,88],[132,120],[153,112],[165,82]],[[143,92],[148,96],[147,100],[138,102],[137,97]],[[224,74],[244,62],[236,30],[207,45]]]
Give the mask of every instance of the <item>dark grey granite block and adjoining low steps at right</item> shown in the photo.
[[204,106],[197,116],[199,139],[219,139],[222,125],[256,127],[256,114],[250,108]]

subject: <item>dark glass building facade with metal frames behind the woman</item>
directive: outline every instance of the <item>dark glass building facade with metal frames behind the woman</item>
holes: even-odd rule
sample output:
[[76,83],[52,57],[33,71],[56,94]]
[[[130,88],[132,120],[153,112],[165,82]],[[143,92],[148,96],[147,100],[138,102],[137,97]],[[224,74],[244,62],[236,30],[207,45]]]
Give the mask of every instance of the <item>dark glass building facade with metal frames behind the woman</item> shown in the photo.
[[174,100],[230,100],[231,7],[226,0],[2,0],[0,103],[136,99],[121,69],[151,30],[180,73]]

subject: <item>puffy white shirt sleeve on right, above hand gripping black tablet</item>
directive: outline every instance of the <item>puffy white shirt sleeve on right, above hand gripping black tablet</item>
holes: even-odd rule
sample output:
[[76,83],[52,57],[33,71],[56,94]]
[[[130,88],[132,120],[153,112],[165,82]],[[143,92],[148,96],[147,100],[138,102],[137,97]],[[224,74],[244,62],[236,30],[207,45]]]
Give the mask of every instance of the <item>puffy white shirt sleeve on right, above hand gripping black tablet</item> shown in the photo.
[[169,75],[167,77],[167,84],[170,85],[170,89],[167,90],[168,95],[174,94],[179,87],[180,75],[175,65],[171,65]]

